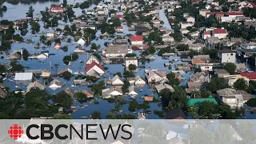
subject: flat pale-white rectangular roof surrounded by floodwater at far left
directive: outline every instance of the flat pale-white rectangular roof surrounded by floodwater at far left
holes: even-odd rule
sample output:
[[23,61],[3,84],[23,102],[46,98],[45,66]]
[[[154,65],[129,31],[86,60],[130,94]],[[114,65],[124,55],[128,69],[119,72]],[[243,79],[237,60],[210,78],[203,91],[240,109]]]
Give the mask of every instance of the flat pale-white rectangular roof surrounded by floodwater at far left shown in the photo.
[[32,82],[32,79],[34,78],[34,74],[33,73],[16,73],[15,74],[15,82],[18,84],[29,84],[30,82]]

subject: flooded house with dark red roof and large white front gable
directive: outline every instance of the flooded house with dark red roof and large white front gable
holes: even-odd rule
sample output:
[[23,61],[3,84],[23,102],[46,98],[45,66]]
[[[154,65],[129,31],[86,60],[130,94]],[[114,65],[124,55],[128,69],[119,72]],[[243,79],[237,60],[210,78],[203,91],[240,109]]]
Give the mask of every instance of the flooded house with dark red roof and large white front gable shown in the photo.
[[103,74],[105,74],[104,67],[99,65],[97,62],[92,62],[86,66],[86,75],[101,78]]

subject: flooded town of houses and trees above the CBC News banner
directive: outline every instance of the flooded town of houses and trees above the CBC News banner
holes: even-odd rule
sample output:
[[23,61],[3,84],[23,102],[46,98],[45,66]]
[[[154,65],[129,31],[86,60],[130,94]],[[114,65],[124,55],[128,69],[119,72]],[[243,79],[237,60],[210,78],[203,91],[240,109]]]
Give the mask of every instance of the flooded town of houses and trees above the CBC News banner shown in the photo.
[[0,0],[2,119],[256,118],[254,0]]

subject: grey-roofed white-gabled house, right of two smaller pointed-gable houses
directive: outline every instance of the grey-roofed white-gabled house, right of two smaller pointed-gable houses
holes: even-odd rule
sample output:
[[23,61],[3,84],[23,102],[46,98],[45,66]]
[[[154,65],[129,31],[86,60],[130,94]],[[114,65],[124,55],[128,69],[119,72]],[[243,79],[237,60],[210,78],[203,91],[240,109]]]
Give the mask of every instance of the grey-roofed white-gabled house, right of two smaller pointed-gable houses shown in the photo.
[[164,70],[149,70],[146,72],[145,76],[147,82],[161,82],[166,79],[166,74]]

